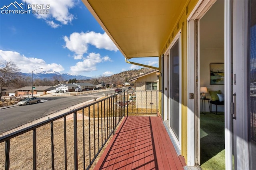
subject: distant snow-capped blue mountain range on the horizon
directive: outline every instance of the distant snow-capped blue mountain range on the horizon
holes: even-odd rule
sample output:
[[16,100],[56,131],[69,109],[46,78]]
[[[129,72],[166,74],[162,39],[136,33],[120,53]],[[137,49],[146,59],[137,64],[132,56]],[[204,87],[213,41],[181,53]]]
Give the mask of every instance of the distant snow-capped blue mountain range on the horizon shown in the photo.
[[[24,76],[31,77],[31,73],[21,73]],[[92,77],[87,77],[83,75],[72,75],[69,73],[58,73],[56,71],[41,71],[40,73],[33,73],[33,79],[52,79],[54,76],[62,76],[64,80],[69,79],[77,79],[77,80],[86,80],[86,79],[92,79]]]

